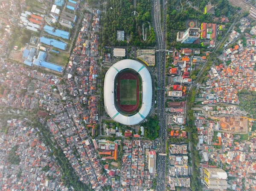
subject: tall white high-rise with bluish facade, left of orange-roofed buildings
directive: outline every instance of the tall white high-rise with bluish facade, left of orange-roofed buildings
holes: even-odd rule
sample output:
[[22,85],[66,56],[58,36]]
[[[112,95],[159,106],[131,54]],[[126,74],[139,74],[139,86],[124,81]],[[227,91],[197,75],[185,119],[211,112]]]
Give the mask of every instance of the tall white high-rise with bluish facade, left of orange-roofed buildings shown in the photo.
[[185,32],[177,33],[177,41],[183,44],[192,44],[200,37],[200,29],[188,28]]

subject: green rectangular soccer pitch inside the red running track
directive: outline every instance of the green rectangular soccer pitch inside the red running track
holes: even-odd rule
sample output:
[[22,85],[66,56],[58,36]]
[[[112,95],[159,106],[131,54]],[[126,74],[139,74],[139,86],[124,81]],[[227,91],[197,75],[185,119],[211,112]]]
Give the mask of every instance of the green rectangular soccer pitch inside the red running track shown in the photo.
[[136,105],[137,103],[137,81],[120,80],[120,104]]

